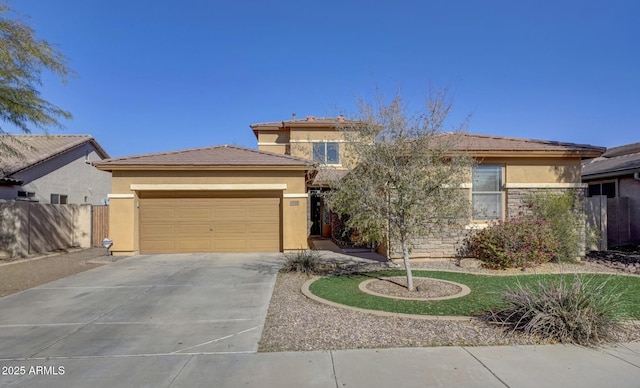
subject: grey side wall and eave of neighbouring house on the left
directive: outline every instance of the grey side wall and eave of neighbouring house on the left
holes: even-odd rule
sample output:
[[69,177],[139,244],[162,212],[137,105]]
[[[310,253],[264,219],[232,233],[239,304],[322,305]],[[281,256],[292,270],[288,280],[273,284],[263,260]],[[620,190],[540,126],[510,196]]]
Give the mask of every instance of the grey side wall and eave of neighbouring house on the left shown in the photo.
[[111,187],[111,174],[96,169],[100,160],[93,146],[85,144],[12,175],[22,186],[5,186],[0,198],[13,200],[18,191],[34,192],[40,203],[51,203],[51,194],[67,196],[69,204],[104,205]]

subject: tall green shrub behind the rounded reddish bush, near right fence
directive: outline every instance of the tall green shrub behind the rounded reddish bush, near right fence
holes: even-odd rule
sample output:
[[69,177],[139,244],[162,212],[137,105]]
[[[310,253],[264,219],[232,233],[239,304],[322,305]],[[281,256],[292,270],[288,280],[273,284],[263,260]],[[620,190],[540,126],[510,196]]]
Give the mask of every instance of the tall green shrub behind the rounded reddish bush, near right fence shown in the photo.
[[[525,199],[530,216],[549,223],[560,243],[555,260],[572,262],[583,252],[585,218],[580,197],[574,192],[539,192]],[[590,236],[592,233],[586,233]],[[587,241],[587,244],[592,242]]]

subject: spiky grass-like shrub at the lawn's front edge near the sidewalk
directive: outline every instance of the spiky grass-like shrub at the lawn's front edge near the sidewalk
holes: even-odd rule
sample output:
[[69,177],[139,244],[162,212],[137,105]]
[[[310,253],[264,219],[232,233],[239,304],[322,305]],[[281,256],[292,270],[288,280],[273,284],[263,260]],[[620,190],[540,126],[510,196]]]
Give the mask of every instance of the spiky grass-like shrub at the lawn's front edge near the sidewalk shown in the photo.
[[522,285],[502,293],[504,305],[485,316],[513,331],[563,343],[597,345],[615,340],[621,293],[609,281],[575,275]]

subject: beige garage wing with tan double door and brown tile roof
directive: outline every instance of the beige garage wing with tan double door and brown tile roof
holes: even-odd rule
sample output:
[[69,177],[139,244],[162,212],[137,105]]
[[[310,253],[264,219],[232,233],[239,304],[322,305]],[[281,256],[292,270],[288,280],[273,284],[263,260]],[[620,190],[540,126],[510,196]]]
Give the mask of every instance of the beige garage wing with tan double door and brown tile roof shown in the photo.
[[307,245],[303,159],[217,146],[105,160],[114,255]]

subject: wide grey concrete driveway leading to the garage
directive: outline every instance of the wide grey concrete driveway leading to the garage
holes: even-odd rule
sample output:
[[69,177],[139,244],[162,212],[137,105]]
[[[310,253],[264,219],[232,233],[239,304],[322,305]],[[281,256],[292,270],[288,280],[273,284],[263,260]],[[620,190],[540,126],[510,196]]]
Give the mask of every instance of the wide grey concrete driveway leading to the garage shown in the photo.
[[256,352],[280,257],[137,256],[1,298],[0,365]]

